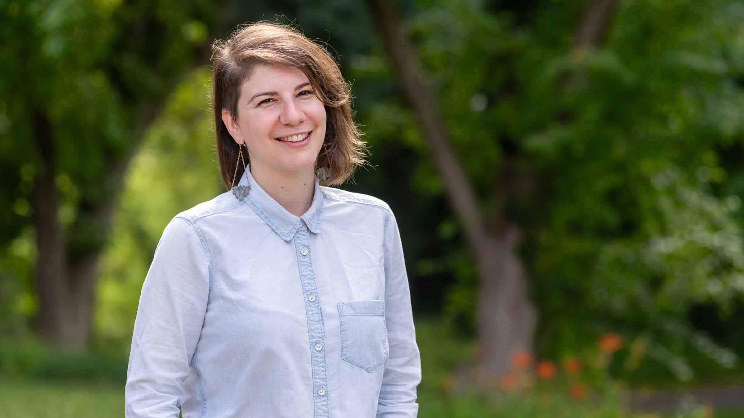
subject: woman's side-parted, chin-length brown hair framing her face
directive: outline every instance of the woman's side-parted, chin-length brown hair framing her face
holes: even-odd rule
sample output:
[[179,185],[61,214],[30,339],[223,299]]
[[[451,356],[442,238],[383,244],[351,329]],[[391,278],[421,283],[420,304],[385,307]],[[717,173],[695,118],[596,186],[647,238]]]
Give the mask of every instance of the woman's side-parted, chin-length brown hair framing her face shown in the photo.
[[[310,80],[313,91],[326,109],[325,147],[318,167],[328,167],[327,185],[343,184],[356,167],[365,163],[366,144],[353,120],[350,86],[338,63],[321,45],[299,30],[273,22],[255,22],[233,30],[225,41],[212,44],[212,108],[217,135],[217,158],[222,182],[232,187],[238,147],[222,122],[222,109],[238,117],[240,86],[257,65],[285,65],[298,68]],[[327,149],[327,151],[326,151]],[[244,155],[245,157],[245,155]],[[237,176],[243,175],[238,165]]]

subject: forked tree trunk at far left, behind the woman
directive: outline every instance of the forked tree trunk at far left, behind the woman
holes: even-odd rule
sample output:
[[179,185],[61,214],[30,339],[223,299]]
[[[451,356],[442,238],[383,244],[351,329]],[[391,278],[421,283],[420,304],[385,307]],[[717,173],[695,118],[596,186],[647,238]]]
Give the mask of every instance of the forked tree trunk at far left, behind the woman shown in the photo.
[[[142,138],[147,126],[153,122],[159,107],[155,103],[143,103],[137,120]],[[84,254],[71,254],[64,228],[59,221],[59,194],[57,177],[54,126],[41,111],[33,115],[33,135],[41,164],[33,183],[33,225],[36,229],[36,292],[39,295],[39,313],[36,327],[42,340],[57,347],[82,351],[88,346],[94,308],[95,285],[97,283],[100,251],[105,245],[116,196],[121,191],[129,167],[129,161],[137,149],[136,144],[127,155],[118,161],[109,161],[110,170],[102,179],[109,196],[96,205],[79,208],[78,218],[82,222],[71,228],[71,237],[95,231],[100,245]],[[84,224],[84,225],[83,225]],[[87,232],[89,234],[89,232]]]

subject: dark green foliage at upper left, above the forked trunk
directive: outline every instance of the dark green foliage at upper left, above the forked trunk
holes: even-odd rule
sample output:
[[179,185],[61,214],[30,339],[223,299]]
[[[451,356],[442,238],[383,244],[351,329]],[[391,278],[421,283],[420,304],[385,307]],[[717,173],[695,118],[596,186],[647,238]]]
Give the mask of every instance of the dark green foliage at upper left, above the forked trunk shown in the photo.
[[[193,48],[207,35],[196,16],[209,19],[211,6],[93,0],[1,5],[0,244],[31,222],[31,182],[43,170],[39,153],[48,151],[57,165],[60,220],[77,233],[70,234],[70,251],[92,251],[105,237],[86,228],[92,222],[85,210],[111,198],[106,176],[136,152],[141,129],[192,65]],[[51,132],[37,132],[39,120],[48,121]]]

